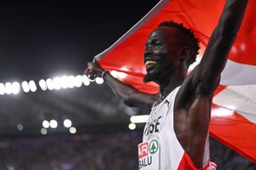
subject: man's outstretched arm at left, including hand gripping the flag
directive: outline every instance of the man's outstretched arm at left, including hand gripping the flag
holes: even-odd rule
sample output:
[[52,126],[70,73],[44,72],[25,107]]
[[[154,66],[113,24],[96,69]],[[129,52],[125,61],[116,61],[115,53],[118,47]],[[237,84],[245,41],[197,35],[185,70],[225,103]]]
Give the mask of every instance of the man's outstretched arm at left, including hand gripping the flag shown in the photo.
[[136,88],[133,88],[124,82],[120,82],[111,76],[108,71],[104,71],[102,67],[96,63],[96,61],[88,63],[88,67],[84,71],[84,74],[90,78],[103,77],[108,83],[108,86],[112,89],[113,94],[121,99],[125,105],[129,105],[131,107],[137,107],[145,111],[150,111],[154,101],[158,97],[158,94],[144,94],[139,92]]

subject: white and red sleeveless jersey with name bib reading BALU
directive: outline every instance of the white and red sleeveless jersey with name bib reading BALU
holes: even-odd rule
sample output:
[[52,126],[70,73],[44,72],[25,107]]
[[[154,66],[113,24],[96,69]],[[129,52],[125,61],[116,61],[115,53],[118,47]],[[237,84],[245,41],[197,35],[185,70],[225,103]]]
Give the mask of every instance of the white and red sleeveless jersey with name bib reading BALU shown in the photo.
[[[195,170],[194,162],[177,140],[173,127],[173,105],[179,87],[175,88],[159,105],[152,107],[144,127],[143,143],[138,144],[140,170]],[[209,136],[205,145],[204,168],[214,170],[209,161]]]

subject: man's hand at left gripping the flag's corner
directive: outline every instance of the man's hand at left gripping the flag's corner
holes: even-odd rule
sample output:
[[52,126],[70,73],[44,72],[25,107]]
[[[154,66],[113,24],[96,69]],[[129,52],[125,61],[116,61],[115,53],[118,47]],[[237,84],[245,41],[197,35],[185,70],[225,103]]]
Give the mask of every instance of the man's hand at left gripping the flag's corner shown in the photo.
[[90,80],[95,80],[96,77],[102,77],[104,70],[96,62],[88,62],[88,67],[84,70],[84,75],[86,75]]

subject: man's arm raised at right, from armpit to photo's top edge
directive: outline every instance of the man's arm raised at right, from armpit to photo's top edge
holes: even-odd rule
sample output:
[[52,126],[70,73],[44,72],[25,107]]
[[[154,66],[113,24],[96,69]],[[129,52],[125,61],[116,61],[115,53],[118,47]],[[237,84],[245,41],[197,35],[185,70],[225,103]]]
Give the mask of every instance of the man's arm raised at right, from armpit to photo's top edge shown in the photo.
[[202,94],[212,94],[219,83],[220,73],[228,59],[228,54],[241,21],[245,14],[247,0],[227,0],[218,21],[218,26],[212,32],[201,63],[195,69],[193,85]]

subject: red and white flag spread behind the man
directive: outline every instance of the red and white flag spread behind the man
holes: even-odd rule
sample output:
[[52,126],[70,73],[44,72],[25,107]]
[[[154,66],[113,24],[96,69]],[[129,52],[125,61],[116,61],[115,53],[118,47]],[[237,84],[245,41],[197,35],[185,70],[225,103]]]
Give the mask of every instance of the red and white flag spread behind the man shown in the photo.
[[[144,83],[144,45],[160,22],[173,20],[192,29],[200,40],[197,61],[224,8],[223,1],[162,0],[113,45],[96,55],[102,68],[141,92],[156,94],[154,82]],[[256,162],[256,2],[249,1],[245,18],[221,82],[212,101],[210,134],[247,159]],[[193,70],[193,65],[189,68]]]

